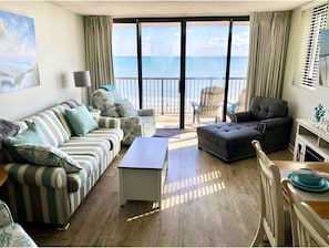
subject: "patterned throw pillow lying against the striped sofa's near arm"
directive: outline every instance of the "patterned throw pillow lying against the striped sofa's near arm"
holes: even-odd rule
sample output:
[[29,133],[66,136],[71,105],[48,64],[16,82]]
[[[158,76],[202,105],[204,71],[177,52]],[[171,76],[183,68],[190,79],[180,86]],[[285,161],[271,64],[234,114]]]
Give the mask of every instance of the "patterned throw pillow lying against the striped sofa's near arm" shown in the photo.
[[62,167],[66,173],[76,173],[82,169],[78,162],[55,146],[21,144],[17,145],[16,149],[34,165]]

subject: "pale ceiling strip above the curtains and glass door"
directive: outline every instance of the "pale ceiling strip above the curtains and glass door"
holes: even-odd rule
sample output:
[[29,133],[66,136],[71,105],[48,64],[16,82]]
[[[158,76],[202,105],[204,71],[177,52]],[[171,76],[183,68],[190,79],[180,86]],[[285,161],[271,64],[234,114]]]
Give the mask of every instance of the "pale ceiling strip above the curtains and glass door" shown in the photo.
[[109,1],[49,1],[83,16],[137,17],[209,17],[244,16],[250,12],[284,11],[298,8],[310,0],[109,0]]

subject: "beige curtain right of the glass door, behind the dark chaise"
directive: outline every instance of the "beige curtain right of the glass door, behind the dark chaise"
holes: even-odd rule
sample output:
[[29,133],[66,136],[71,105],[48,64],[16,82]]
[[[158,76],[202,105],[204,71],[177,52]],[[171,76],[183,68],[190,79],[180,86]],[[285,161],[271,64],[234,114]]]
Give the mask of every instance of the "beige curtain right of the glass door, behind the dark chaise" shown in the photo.
[[290,11],[250,14],[247,105],[256,95],[281,97]]

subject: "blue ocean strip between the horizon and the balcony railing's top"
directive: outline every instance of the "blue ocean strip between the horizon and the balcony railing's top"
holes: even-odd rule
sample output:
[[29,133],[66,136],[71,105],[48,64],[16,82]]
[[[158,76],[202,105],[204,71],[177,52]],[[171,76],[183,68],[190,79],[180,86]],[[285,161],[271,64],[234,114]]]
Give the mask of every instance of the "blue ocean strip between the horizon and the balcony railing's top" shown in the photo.
[[[115,78],[137,76],[136,56],[114,56]],[[178,78],[179,56],[143,56],[143,78]],[[246,78],[248,56],[232,56],[230,78]],[[226,56],[187,56],[186,78],[223,78]]]

